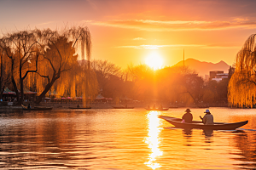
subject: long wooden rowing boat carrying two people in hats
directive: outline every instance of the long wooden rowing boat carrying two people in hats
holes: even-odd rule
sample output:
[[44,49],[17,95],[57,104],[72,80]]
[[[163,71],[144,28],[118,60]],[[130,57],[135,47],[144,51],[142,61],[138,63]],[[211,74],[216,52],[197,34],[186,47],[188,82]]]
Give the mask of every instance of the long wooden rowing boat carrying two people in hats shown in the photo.
[[212,129],[212,130],[234,130],[238,127],[246,125],[248,121],[244,122],[234,122],[234,123],[226,123],[226,122],[214,122],[213,125],[205,125],[199,121],[193,121],[192,123],[182,122],[182,119],[175,118],[171,116],[159,116],[161,119],[170,122],[175,127],[179,128],[201,128],[201,129]]

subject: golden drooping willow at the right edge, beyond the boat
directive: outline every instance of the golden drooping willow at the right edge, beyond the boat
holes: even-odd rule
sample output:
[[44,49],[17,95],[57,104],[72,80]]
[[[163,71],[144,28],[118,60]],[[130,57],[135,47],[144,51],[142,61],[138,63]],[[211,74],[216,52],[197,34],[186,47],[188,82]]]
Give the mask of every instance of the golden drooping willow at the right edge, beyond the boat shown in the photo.
[[236,54],[236,71],[230,78],[229,102],[236,107],[253,107],[256,103],[256,34],[248,37]]

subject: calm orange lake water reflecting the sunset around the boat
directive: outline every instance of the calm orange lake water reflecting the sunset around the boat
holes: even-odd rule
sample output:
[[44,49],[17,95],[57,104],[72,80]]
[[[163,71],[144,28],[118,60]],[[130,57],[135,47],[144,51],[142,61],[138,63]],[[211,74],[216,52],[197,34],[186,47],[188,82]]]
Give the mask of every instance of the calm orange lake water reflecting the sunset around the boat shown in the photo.
[[[255,110],[210,108],[215,122],[249,121],[236,131],[184,131],[157,117],[185,109],[0,113],[0,168],[256,168]],[[199,120],[205,110],[191,111]]]

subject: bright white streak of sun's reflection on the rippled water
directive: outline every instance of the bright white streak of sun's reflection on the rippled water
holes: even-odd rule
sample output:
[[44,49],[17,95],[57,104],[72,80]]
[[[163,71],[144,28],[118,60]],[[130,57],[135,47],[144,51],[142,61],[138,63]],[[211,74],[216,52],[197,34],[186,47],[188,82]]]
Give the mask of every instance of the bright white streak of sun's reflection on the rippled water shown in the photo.
[[145,165],[152,169],[161,167],[160,164],[156,162],[156,158],[163,154],[159,148],[160,119],[158,118],[158,114],[158,111],[150,111],[148,113],[148,137],[145,139],[145,143],[148,144],[148,148],[151,149],[149,161],[145,162]]

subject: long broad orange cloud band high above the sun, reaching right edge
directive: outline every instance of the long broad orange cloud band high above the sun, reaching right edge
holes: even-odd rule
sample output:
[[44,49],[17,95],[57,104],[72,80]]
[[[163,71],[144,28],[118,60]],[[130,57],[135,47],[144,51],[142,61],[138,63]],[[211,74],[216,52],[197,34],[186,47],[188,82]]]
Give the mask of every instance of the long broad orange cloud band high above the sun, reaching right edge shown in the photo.
[[94,26],[108,26],[138,31],[212,31],[234,28],[253,29],[256,21],[237,18],[231,21],[205,20],[84,20]]

